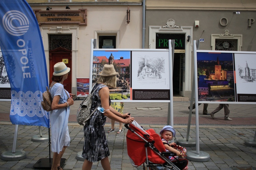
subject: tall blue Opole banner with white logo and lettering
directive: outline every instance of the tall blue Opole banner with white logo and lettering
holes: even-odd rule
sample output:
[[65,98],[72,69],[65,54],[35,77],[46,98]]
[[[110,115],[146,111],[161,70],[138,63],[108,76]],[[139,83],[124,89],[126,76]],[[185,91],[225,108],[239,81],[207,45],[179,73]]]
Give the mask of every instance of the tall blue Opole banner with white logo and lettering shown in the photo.
[[11,85],[12,124],[49,128],[41,108],[48,85],[42,37],[37,19],[25,0],[0,1],[0,47]]

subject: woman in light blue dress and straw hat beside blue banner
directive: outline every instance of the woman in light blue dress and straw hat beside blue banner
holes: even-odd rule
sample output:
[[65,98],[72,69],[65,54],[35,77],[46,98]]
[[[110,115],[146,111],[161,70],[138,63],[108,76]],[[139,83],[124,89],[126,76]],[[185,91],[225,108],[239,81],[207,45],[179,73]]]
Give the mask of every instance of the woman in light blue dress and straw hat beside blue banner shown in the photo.
[[70,143],[68,118],[70,105],[74,104],[72,94],[69,94],[63,87],[63,81],[68,78],[70,68],[63,62],[54,65],[54,73],[51,84],[52,111],[50,111],[50,122],[52,132],[52,170],[62,170],[60,160]]

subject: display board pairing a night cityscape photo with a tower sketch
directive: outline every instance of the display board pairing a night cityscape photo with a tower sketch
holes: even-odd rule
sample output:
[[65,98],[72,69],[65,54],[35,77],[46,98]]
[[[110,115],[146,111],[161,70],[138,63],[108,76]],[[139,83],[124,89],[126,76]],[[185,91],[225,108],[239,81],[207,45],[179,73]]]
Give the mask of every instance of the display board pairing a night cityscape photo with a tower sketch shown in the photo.
[[256,104],[256,52],[197,51],[198,103]]

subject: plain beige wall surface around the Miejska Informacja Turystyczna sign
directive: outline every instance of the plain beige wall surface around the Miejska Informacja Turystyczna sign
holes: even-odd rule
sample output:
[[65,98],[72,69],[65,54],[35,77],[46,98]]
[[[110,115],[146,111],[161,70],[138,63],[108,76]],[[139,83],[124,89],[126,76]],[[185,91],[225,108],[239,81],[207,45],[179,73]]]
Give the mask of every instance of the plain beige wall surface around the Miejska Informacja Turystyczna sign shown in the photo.
[[[30,4],[33,10],[65,10],[63,3],[52,5]],[[69,4],[71,10],[87,9],[87,26],[78,24],[41,24],[40,30],[43,38],[46,63],[49,66],[48,34],[60,34],[57,27],[62,27],[61,34],[72,34],[72,89],[76,87],[76,78],[88,78],[90,67],[91,39],[98,35],[117,35],[117,48],[138,49],[142,47],[142,6],[130,4],[130,22],[126,22],[128,5],[76,5]],[[64,6],[65,7],[65,6]],[[119,42],[119,43],[118,43]],[[49,69],[48,69],[49,70]],[[73,90],[72,90],[73,91]]]

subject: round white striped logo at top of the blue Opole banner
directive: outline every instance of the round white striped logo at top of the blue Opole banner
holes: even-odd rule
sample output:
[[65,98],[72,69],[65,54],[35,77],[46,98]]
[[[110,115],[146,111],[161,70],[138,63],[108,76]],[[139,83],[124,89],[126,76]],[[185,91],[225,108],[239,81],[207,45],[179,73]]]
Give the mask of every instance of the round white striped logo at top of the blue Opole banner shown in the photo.
[[29,29],[28,18],[20,11],[8,11],[3,16],[3,27],[11,35],[24,35]]

